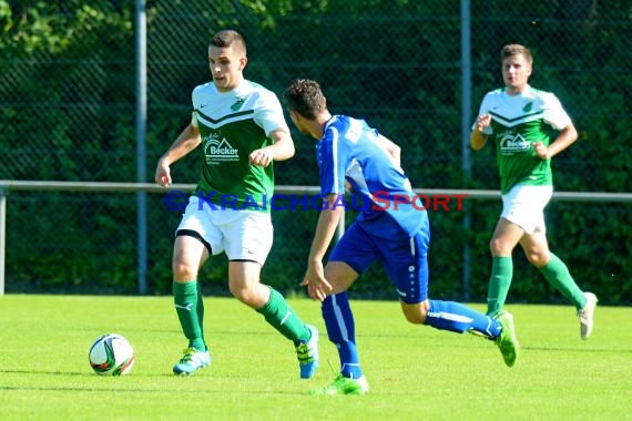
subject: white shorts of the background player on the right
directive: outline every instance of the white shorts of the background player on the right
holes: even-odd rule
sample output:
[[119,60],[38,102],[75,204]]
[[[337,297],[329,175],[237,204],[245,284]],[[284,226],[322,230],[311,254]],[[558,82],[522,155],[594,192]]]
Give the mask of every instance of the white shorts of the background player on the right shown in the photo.
[[544,233],[544,207],[553,195],[553,186],[516,185],[502,195],[501,218],[524,229],[527,234],[536,230]]

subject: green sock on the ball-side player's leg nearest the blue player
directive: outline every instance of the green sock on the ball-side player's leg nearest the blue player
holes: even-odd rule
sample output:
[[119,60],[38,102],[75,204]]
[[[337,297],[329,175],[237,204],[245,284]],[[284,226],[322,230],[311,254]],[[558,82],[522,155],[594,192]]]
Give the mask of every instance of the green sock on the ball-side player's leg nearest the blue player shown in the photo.
[[269,300],[257,312],[265,317],[265,320],[278,330],[284,337],[294,343],[307,341],[312,335],[303,320],[289,308],[287,301],[275,289],[269,288]]

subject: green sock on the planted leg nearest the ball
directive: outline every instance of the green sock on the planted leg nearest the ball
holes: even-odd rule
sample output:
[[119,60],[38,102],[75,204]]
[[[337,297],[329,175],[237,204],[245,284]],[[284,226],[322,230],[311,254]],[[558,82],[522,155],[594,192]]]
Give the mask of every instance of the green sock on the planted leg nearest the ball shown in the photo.
[[190,283],[173,283],[173,302],[188,346],[198,351],[206,350],[204,342],[204,301],[197,289],[197,280]]

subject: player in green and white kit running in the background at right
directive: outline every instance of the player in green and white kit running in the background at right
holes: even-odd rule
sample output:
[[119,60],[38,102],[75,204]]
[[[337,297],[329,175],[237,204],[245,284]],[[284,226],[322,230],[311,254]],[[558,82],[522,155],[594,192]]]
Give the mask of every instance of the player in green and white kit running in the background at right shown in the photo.
[[[529,261],[575,306],[581,338],[587,339],[597,297],[583,292],[567,265],[549,250],[543,213],[553,193],[551,157],[578,135],[555,95],[529,85],[532,62],[531,52],[523,45],[502,48],[504,88],[486,94],[470,135],[475,151],[488,138],[493,141],[502,193],[502,214],[490,242],[488,314],[499,312],[504,305],[513,276],[511,253],[520,244]],[[551,130],[558,132],[554,140]]]

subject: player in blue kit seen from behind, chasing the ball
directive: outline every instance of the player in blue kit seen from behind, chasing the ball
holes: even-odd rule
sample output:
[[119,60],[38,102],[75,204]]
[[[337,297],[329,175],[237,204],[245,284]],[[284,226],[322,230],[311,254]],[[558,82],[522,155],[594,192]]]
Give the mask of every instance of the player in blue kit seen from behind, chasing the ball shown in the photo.
[[[459,302],[428,298],[428,215],[422,204],[402,199],[412,198],[415,193],[399,165],[399,146],[364,120],[332,115],[320,86],[313,80],[293,81],[283,99],[296,127],[317,140],[324,203],[302,285],[307,286],[312,299],[322,301],[327,335],[340,358],[337,378],[312,392],[368,392],[346,290],[374,261],[385,266],[409,322],[489,338],[500,348],[504,363],[512,367],[519,345],[509,312],[490,317]],[[323,258],[344,212],[346,183],[368,202],[324,266]]]

